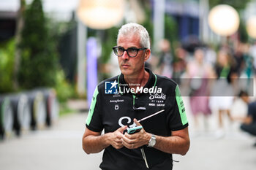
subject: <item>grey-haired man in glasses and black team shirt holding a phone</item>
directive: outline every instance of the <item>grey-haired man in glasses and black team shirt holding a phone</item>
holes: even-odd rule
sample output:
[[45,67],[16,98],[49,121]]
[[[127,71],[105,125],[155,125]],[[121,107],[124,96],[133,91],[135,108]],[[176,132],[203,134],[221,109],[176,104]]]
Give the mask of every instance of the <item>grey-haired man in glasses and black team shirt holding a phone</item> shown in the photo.
[[[178,85],[145,68],[151,50],[143,26],[122,26],[113,51],[121,74],[97,85],[83,150],[88,154],[104,150],[99,166],[104,170],[172,169],[172,154],[185,155],[189,150],[187,116]],[[139,123],[160,110],[164,111]],[[136,125],[143,126],[138,133],[124,132]]]

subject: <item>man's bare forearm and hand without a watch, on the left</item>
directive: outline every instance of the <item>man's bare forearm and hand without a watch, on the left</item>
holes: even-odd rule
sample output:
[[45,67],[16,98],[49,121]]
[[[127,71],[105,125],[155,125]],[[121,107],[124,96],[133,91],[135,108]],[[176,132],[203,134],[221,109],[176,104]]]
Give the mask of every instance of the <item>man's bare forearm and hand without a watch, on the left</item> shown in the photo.
[[102,134],[101,132],[91,131],[86,128],[83,134],[83,150],[87,153],[97,153],[104,150],[110,144],[116,149],[120,149],[124,145],[121,143],[121,138],[124,130],[127,126],[118,128],[116,131],[108,134]]

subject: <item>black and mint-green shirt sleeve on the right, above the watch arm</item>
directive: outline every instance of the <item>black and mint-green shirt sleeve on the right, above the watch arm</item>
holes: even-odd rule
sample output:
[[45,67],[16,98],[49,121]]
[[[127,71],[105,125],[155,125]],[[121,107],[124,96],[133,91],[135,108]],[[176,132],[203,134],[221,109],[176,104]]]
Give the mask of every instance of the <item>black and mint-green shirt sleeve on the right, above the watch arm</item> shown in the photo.
[[172,95],[173,108],[170,109],[169,128],[171,131],[178,131],[188,126],[188,120],[181,92],[176,85],[175,95]]

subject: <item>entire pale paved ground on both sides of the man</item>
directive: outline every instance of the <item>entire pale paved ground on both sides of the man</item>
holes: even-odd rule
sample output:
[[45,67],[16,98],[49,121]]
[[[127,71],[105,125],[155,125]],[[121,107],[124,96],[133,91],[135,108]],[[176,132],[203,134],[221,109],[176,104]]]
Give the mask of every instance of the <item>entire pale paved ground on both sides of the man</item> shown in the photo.
[[[86,113],[66,115],[53,128],[28,132],[0,142],[1,170],[97,170],[102,152],[86,155],[81,137]],[[193,127],[193,126],[192,126]],[[255,139],[238,130],[216,138],[214,131],[191,131],[191,147],[186,156],[174,155],[174,169],[254,170]]]

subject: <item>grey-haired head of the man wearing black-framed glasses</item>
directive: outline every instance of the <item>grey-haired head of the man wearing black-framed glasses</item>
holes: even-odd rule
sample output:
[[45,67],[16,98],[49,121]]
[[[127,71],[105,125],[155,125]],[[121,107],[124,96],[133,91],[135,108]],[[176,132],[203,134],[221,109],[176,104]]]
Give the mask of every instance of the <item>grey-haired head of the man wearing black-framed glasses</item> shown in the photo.
[[137,23],[127,23],[118,31],[116,53],[124,77],[139,77],[150,56],[148,31]]

